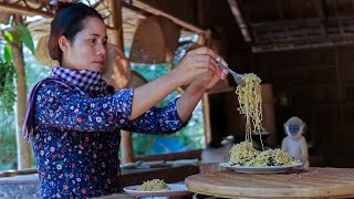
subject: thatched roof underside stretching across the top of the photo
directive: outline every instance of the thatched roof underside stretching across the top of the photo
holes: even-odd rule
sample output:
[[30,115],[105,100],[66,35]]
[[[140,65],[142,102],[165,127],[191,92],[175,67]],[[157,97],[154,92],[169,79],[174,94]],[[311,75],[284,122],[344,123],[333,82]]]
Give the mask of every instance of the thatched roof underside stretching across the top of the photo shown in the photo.
[[[0,21],[10,12],[41,14],[46,21],[30,24],[34,38],[48,31],[52,15],[50,0],[10,0],[0,2]],[[114,29],[111,0],[90,0],[92,7],[106,18],[108,30]],[[336,46],[354,43],[354,2],[352,0],[121,0],[123,32],[126,44],[132,42],[142,19],[162,11],[173,13],[174,22],[184,24],[181,33],[204,32],[207,29],[235,27],[227,41],[239,34],[253,52],[283,51]],[[150,6],[149,6],[150,4]],[[154,7],[157,8],[154,10]],[[152,11],[153,10],[153,11]],[[191,14],[192,13],[192,14]],[[160,13],[158,13],[160,14]],[[180,19],[194,18],[189,23]],[[179,20],[179,21],[178,21]],[[187,20],[188,21],[188,20]],[[192,21],[192,22],[190,22]],[[238,31],[238,32],[236,32]],[[233,36],[233,38],[232,38]]]

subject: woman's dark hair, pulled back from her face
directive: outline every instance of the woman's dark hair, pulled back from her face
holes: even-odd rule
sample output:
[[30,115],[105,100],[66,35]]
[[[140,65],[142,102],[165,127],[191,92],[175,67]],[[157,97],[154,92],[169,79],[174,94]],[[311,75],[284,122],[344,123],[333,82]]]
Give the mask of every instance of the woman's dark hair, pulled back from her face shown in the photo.
[[86,18],[98,18],[102,21],[103,18],[95,9],[81,2],[59,2],[56,8],[55,17],[51,22],[48,50],[50,56],[62,64],[63,52],[59,46],[59,38],[64,35],[69,41],[74,41],[76,33],[83,30]]

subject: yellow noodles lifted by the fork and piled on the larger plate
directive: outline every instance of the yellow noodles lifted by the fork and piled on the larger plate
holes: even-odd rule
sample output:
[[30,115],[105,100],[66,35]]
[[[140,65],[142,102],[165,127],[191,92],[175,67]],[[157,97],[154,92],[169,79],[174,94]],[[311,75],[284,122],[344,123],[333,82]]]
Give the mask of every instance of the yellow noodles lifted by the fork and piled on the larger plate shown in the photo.
[[299,164],[288,153],[281,149],[259,151],[252,146],[252,133],[260,133],[262,127],[261,80],[253,73],[244,74],[244,84],[238,85],[236,93],[240,107],[238,111],[246,117],[246,140],[233,145],[230,150],[229,165],[233,166],[291,166]]

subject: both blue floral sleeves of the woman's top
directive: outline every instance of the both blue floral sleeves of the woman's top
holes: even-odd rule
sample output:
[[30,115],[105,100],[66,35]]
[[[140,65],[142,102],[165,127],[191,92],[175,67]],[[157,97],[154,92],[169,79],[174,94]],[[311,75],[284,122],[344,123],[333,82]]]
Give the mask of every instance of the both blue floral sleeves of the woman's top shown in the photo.
[[54,82],[44,83],[37,95],[35,124],[76,132],[113,132],[122,128],[150,134],[168,134],[184,127],[177,114],[177,100],[163,108],[153,107],[129,121],[132,98],[133,88],[92,98]]

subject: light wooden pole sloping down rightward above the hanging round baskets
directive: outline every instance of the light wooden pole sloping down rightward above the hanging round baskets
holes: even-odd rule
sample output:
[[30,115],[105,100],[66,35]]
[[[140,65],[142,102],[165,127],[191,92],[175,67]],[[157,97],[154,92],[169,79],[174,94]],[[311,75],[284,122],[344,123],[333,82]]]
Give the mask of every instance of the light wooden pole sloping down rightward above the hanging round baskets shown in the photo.
[[183,28],[186,28],[186,29],[188,29],[188,30],[190,30],[192,32],[196,32],[198,34],[206,34],[207,33],[206,30],[202,30],[202,29],[200,29],[200,28],[198,28],[196,25],[192,25],[190,23],[187,23],[186,21],[183,21],[183,20],[180,20],[180,19],[178,19],[176,17],[173,17],[173,15],[170,15],[170,14],[168,14],[168,13],[162,11],[162,10],[158,10],[158,9],[156,9],[154,7],[150,7],[150,6],[148,6],[148,4],[146,4],[146,3],[142,2],[142,1],[135,0],[135,1],[131,2],[131,6],[136,7],[136,8],[140,9],[140,10],[144,10],[144,11],[146,11],[148,13],[154,14],[154,15],[163,15],[163,17],[174,21],[176,24],[178,24],[178,25],[180,25]]

